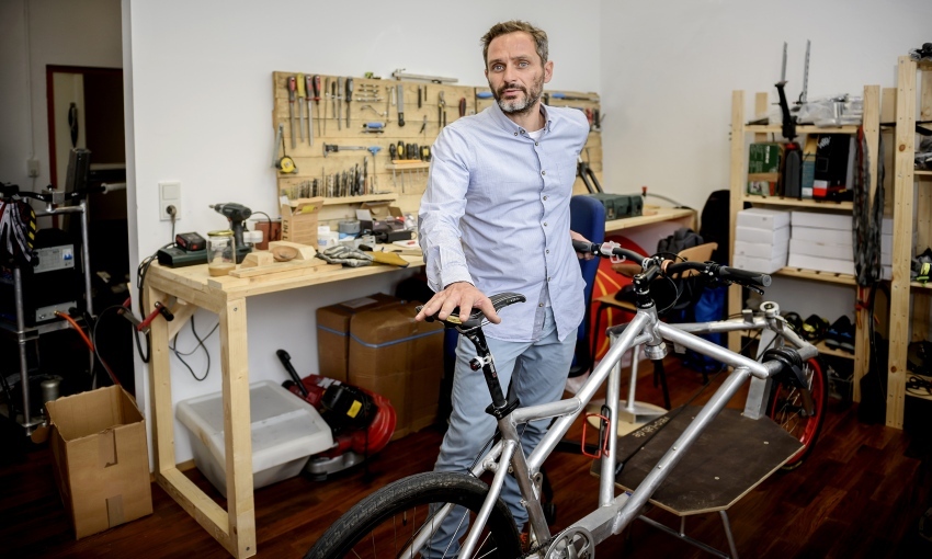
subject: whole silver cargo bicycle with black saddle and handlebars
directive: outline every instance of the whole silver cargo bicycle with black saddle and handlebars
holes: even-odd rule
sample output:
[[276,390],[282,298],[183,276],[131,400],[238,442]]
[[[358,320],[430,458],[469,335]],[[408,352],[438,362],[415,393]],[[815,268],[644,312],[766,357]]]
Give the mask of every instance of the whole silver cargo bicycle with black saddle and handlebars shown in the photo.
[[[640,263],[641,273],[634,277],[637,313],[630,322],[610,329],[613,344],[602,362],[593,369],[589,379],[577,393],[556,402],[522,408],[515,399],[509,400],[502,393],[495,372],[495,364],[485,343],[481,327],[485,316],[473,309],[468,320],[461,321],[458,310],[442,322],[455,328],[476,346],[477,355],[470,366],[482,372],[489,388],[492,403],[487,412],[498,421],[497,442],[491,449],[478,459],[469,472],[425,472],[390,483],[360,501],[343,514],[305,555],[306,559],[332,559],[339,557],[382,557],[385,551],[390,557],[416,557],[424,545],[435,536],[439,524],[455,511],[454,522],[458,523],[456,539],[447,548],[451,557],[536,557],[546,559],[576,559],[594,557],[598,544],[612,535],[620,534],[640,512],[648,500],[658,491],[677,464],[700,436],[709,430],[728,401],[746,381],[750,388],[745,402],[741,419],[766,431],[769,455],[773,455],[773,470],[800,453],[807,453],[818,435],[821,425],[821,412],[825,400],[812,398],[815,378],[821,378],[816,372],[804,366],[817,355],[815,346],[803,340],[785,323],[778,315],[775,304],[765,305],[760,313],[743,313],[740,319],[702,324],[666,324],[658,319],[658,312],[650,296],[650,283],[670,277],[687,270],[724,283],[736,283],[762,292],[770,285],[771,278],[743,270],[730,269],[715,262],[670,262],[661,255],[645,258],[636,252],[621,248],[613,242],[601,244],[573,241],[578,252],[589,252],[615,260],[627,259]],[[497,311],[509,305],[524,301],[520,294],[504,293],[490,297]],[[770,331],[773,339],[766,342],[771,347],[763,351],[763,361],[754,361],[726,347],[718,346],[695,335],[705,331],[761,330]],[[623,355],[632,349],[643,349],[651,360],[662,360],[667,355],[666,341],[691,349],[729,365],[732,370],[723,381],[708,402],[697,409],[695,418],[685,425],[682,433],[666,449],[659,461],[650,468],[644,480],[633,491],[615,494],[615,479],[620,447],[617,421],[620,407],[621,366]],[[789,345],[786,345],[788,342]],[[777,380],[775,384],[774,380]],[[555,449],[567,430],[583,412],[596,389],[607,381],[606,404],[602,408],[600,438],[596,454],[600,458],[598,506],[588,515],[579,518],[558,534],[550,534],[546,515],[541,502],[541,467]],[[823,388],[822,392],[827,390]],[[821,397],[820,397],[821,398]],[[682,410],[684,408],[680,408]],[[734,411],[734,410],[732,410]],[[780,412],[795,414],[808,424],[815,421],[811,430],[805,434],[791,434],[783,426],[770,421],[769,415]],[[669,415],[657,420],[647,432],[656,432]],[[736,418],[738,413],[721,414],[723,418]],[[519,443],[519,425],[528,421],[552,419],[550,429],[537,447],[525,456]],[[664,422],[664,420],[667,420]],[[730,420],[729,420],[730,421]],[[646,444],[638,443],[638,446]],[[777,448],[778,447],[778,448]],[[798,458],[802,460],[802,457]],[[770,465],[766,466],[770,468]],[[595,469],[595,467],[593,467]],[[491,483],[479,477],[490,472]],[[525,548],[521,535],[508,506],[500,499],[507,475],[518,480],[522,503],[527,507],[531,547]],[[753,486],[752,486],[753,487]],[[454,509],[455,507],[455,509]],[[466,529],[466,522],[469,528]],[[726,532],[735,555],[734,540],[726,518]],[[458,551],[456,547],[459,547]],[[446,552],[444,552],[446,555]]]

